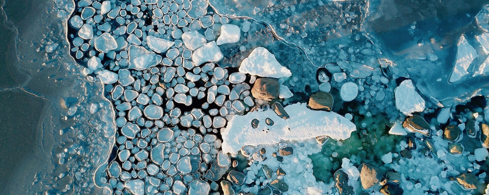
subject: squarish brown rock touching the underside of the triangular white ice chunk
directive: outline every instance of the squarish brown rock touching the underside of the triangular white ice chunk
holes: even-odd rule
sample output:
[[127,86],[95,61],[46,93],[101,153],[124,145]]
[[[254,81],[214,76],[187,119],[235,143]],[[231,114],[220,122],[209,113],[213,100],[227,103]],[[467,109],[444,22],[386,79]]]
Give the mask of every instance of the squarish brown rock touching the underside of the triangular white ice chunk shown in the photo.
[[279,83],[275,78],[258,78],[251,89],[254,98],[269,101],[278,98],[278,93]]

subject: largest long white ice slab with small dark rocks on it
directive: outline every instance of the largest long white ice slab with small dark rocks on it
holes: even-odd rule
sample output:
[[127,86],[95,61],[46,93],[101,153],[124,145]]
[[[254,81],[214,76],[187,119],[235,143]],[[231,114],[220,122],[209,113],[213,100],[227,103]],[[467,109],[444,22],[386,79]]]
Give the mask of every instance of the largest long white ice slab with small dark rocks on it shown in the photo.
[[[347,139],[356,131],[354,123],[334,112],[311,110],[306,103],[288,105],[284,110],[290,118],[278,117],[272,109],[250,112],[244,116],[234,116],[222,134],[222,151],[236,153],[243,146],[275,144],[281,140],[303,140],[318,136],[329,136],[333,139]],[[265,122],[269,117],[274,124]],[[256,129],[251,121],[260,122]]]

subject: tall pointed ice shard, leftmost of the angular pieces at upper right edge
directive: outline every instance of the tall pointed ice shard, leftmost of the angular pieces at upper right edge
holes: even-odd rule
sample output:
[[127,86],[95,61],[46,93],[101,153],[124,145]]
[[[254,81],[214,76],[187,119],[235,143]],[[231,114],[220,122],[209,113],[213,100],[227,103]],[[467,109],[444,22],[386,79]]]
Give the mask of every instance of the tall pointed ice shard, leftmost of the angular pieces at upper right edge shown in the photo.
[[467,69],[472,61],[475,58],[479,57],[474,47],[472,47],[472,45],[467,42],[465,35],[462,35],[462,37],[460,37],[457,46],[457,60],[455,61],[453,71],[450,74],[450,78],[448,79],[450,83],[457,83],[462,81],[462,77],[468,74]]

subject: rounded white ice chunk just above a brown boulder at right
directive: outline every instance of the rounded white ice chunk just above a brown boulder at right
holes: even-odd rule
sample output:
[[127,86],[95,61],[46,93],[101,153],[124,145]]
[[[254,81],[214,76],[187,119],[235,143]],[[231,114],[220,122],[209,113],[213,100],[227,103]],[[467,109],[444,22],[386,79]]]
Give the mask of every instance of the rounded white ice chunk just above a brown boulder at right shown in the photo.
[[413,82],[409,79],[402,81],[396,87],[394,96],[397,109],[404,114],[422,112],[424,110],[424,99],[416,92]]

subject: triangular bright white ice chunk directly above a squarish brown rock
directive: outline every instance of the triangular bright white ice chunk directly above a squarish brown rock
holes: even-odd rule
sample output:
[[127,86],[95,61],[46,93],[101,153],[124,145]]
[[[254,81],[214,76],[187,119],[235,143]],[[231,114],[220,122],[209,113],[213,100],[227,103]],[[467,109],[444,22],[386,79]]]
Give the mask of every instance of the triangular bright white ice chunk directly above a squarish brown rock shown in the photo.
[[260,77],[282,78],[292,76],[290,70],[282,66],[275,59],[275,55],[264,47],[253,49],[249,56],[241,62],[239,71]]

